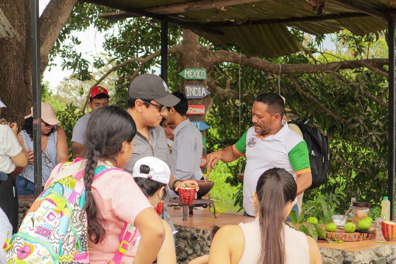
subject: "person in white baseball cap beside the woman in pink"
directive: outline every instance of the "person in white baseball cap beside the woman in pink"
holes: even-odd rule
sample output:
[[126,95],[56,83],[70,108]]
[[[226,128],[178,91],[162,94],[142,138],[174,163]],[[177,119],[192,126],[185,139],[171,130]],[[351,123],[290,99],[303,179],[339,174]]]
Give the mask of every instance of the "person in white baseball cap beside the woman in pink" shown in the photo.
[[[135,182],[147,197],[149,203],[156,207],[167,195],[171,170],[168,165],[155,157],[145,157],[138,160],[134,166]],[[157,254],[158,264],[176,264],[175,242],[172,230],[167,221],[162,220],[165,228],[165,239]],[[138,243],[135,244],[137,247]]]

